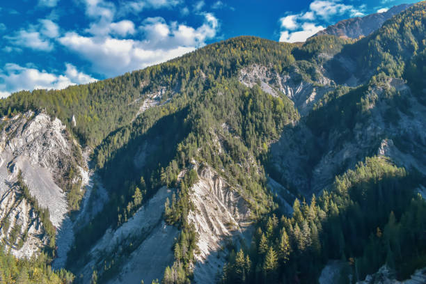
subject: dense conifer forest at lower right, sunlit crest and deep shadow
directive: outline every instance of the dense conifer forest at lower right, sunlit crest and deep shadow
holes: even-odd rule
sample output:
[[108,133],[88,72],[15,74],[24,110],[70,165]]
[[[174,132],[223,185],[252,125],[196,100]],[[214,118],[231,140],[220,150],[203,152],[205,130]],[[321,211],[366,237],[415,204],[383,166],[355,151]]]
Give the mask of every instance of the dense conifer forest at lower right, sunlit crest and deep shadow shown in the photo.
[[355,281],[384,263],[409,276],[426,263],[426,203],[414,194],[419,178],[384,158],[367,158],[319,198],[295,200],[290,218],[261,221],[253,242],[230,253],[221,282],[313,283],[330,259],[347,261]]

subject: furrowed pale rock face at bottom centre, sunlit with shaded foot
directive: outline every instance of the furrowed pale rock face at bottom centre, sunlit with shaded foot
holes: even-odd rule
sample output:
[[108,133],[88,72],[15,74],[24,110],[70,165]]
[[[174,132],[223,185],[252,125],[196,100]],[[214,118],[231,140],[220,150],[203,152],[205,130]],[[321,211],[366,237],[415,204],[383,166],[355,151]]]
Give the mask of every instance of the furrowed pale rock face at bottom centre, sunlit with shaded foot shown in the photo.
[[194,283],[216,283],[215,276],[226,262],[223,247],[227,239],[244,238],[251,211],[237,190],[210,166],[201,166],[198,176],[200,180],[190,191],[196,210],[188,216],[199,234]]

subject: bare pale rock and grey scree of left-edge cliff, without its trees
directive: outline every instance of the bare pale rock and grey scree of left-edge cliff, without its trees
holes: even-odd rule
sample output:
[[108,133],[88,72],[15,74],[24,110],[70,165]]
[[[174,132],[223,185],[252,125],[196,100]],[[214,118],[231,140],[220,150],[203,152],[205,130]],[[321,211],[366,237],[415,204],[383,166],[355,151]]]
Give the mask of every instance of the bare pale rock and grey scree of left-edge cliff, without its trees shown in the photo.
[[[72,141],[65,125],[45,113],[28,111],[14,118],[3,118],[0,141],[0,216],[13,226],[21,226],[17,239],[23,239],[21,249],[13,248],[18,257],[29,257],[47,242],[42,223],[28,201],[22,199],[17,187],[17,175],[29,187],[40,207],[48,208],[50,221],[60,228],[68,212],[66,194],[58,186],[71,163],[77,163]],[[77,166],[79,167],[79,166]],[[79,167],[81,171],[83,168]],[[79,180],[79,175],[74,182]],[[4,228],[4,226],[3,226]],[[1,230],[1,237],[8,235]],[[7,242],[7,241],[6,241]]]

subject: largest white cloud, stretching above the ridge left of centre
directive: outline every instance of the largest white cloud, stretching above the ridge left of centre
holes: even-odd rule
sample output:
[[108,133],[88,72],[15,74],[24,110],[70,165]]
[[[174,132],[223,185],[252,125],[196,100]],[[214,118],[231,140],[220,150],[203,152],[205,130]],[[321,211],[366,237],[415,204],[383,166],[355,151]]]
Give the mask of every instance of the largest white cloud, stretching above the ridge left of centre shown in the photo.
[[204,24],[197,29],[176,22],[167,24],[159,17],[148,18],[139,28],[143,40],[88,37],[69,32],[58,41],[90,61],[95,72],[116,76],[167,61],[205,45],[205,40],[216,36],[219,23],[210,13],[204,16]]

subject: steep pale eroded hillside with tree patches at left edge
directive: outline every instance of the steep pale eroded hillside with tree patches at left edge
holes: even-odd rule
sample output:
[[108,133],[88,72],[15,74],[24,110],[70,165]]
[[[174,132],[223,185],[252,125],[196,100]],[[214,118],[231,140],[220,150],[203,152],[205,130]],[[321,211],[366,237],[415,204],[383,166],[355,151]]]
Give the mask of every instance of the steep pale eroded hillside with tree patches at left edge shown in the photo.
[[1,238],[13,254],[29,258],[55,248],[56,230],[79,209],[86,170],[57,118],[28,111],[3,118],[1,127]]

